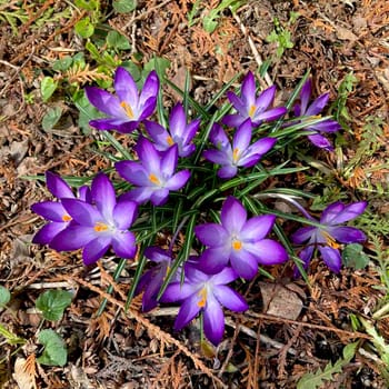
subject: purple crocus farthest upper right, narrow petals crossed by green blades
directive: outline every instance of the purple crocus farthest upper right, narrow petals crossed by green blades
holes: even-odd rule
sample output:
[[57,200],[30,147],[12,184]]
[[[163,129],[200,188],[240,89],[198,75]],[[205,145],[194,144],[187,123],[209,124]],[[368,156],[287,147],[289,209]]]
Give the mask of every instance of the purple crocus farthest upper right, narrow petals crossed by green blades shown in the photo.
[[[300,92],[300,103],[293,107],[296,117],[318,117],[320,112],[326,107],[329,93],[323,93],[319,96],[310,106],[308,102],[310,100],[312,92],[312,81],[310,79],[302,86]],[[333,147],[331,142],[321,134],[321,132],[336,132],[341,129],[340,124],[336,120],[325,120],[316,124],[307,123],[305,130],[315,131],[313,134],[308,136],[308,139],[320,149],[332,151]]]

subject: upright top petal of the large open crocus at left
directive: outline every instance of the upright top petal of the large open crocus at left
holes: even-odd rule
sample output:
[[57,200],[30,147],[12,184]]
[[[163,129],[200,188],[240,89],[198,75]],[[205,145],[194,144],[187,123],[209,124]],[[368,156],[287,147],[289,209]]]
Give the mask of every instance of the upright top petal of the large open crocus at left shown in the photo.
[[104,173],[99,173],[92,181],[91,193],[96,206],[106,220],[112,221],[117,199],[113,186]]

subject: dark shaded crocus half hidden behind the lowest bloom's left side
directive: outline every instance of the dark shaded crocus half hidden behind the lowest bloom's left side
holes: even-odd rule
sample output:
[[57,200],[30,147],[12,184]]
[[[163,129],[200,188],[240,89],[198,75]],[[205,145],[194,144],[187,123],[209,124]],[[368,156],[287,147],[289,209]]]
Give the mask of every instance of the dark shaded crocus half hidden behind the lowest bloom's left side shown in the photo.
[[144,257],[156,262],[157,266],[144,272],[137,286],[137,292],[144,290],[142,297],[142,310],[150,311],[158,305],[158,292],[162,287],[164,277],[171,266],[171,253],[159,247],[148,247]]

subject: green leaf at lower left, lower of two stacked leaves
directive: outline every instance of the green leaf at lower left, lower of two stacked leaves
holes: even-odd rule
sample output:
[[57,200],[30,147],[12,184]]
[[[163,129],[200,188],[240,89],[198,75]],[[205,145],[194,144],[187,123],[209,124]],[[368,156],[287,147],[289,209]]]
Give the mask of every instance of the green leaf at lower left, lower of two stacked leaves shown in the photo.
[[68,359],[68,351],[62,338],[51,329],[42,330],[38,340],[44,346],[42,355],[37,359],[41,365],[64,366]]

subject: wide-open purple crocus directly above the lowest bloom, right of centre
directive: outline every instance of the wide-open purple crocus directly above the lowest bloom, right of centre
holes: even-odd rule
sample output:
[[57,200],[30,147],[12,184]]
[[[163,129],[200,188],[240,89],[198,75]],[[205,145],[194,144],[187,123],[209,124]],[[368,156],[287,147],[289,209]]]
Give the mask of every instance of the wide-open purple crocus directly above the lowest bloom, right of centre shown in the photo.
[[202,245],[209,246],[199,265],[207,273],[221,271],[228,262],[239,277],[252,279],[258,265],[277,265],[288,259],[285,248],[265,239],[275,225],[273,215],[256,216],[247,220],[247,211],[233,197],[221,208],[221,225],[206,223],[194,227]]

